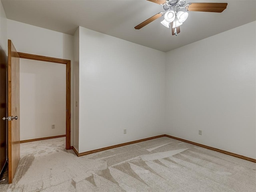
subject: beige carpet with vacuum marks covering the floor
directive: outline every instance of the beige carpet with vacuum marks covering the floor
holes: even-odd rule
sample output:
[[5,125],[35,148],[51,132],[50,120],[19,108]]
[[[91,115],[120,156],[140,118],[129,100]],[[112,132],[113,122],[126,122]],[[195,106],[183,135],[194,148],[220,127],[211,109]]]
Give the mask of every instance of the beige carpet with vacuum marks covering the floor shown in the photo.
[[255,192],[256,164],[167,137],[77,157],[65,138],[21,144],[1,192]]

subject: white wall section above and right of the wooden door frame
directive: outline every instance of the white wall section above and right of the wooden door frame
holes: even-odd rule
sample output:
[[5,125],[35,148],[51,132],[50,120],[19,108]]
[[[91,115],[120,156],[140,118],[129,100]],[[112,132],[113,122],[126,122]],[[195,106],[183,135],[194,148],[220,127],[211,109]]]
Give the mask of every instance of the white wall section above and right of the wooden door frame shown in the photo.
[[18,52],[71,60],[71,145],[73,145],[73,36],[7,19],[7,37]]

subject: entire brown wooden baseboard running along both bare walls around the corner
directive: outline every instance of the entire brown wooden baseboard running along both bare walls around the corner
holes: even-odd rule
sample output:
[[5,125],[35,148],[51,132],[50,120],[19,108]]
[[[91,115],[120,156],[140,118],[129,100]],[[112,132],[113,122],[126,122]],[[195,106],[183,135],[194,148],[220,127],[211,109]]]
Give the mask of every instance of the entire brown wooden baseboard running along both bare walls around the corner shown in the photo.
[[145,139],[140,139],[140,140],[136,140],[136,141],[126,142],[126,143],[122,143],[122,144],[112,145],[112,146],[109,146],[109,147],[90,150],[90,151],[86,151],[86,152],[82,152],[82,153],[78,153],[78,151],[74,147],[73,147],[73,150],[76,153],[76,155],[78,157],[80,157],[80,156],[84,156],[84,155],[88,155],[88,154],[92,154],[92,153],[96,153],[96,152],[100,152],[100,151],[104,151],[104,150],[108,150],[108,149],[113,149],[113,148],[117,148],[117,147],[121,147],[121,146],[125,146],[125,145],[139,143],[139,142],[142,142],[142,141],[156,139],[156,138],[160,138],[160,137],[169,137],[169,138],[172,138],[172,139],[180,140],[180,141],[183,141],[183,142],[186,142],[186,143],[190,143],[190,144],[193,144],[193,145],[196,145],[196,146],[200,146],[200,147],[203,147],[203,148],[206,148],[206,149],[214,150],[214,151],[217,151],[217,152],[220,152],[220,153],[224,153],[224,154],[227,154],[227,155],[230,155],[230,156],[234,156],[234,157],[237,157],[237,158],[240,158],[240,159],[244,159],[244,160],[256,163],[256,159],[254,159],[254,158],[242,156],[242,155],[239,155],[239,154],[224,151],[224,150],[221,150],[221,149],[217,149],[217,148],[214,148],[214,147],[210,147],[210,146],[207,146],[207,145],[199,144],[199,143],[196,143],[196,142],[188,141],[188,140],[185,140],[185,139],[181,139],[181,138],[166,135],[166,134],[158,135],[158,136],[154,136],[154,137],[149,137],[149,138],[145,138]]

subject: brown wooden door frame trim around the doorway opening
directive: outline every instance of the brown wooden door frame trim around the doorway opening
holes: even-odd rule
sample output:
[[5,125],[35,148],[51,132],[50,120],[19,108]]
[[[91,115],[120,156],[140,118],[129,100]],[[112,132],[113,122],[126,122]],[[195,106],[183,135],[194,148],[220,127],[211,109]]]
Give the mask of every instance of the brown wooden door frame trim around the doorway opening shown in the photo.
[[60,63],[66,65],[66,150],[71,147],[71,61],[66,59],[58,59],[53,57],[46,57],[40,55],[33,55],[28,53],[18,52],[20,58],[37,61],[45,61],[52,63]]

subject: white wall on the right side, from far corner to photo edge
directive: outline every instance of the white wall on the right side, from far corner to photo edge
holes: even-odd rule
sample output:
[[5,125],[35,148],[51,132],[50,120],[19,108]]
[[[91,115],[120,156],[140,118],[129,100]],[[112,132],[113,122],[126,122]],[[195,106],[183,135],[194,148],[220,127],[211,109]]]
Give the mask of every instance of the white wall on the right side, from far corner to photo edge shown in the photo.
[[166,134],[256,158],[255,26],[166,54]]

